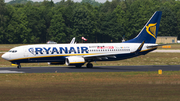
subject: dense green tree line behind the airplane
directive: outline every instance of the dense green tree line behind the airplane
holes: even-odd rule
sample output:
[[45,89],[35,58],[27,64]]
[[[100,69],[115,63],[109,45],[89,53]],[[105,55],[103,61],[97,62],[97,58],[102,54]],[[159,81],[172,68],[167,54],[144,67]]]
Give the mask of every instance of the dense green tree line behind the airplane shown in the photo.
[[158,36],[180,39],[178,0],[0,0],[0,43],[82,42],[82,36],[88,43],[121,42],[134,38],[155,11],[162,11]]

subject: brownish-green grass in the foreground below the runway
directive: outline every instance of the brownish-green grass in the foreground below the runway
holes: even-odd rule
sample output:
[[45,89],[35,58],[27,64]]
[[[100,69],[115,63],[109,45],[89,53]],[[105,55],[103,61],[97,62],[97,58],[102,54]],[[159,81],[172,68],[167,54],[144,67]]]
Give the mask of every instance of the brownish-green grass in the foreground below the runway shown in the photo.
[[180,71],[0,74],[0,100],[178,101]]

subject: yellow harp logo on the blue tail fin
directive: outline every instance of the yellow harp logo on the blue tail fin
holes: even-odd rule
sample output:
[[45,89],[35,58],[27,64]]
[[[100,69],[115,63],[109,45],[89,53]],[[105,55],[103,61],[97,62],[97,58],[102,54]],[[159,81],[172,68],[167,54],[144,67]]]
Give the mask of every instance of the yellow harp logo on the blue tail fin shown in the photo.
[[156,39],[156,24],[149,24],[146,26],[146,31],[149,35],[153,36]]

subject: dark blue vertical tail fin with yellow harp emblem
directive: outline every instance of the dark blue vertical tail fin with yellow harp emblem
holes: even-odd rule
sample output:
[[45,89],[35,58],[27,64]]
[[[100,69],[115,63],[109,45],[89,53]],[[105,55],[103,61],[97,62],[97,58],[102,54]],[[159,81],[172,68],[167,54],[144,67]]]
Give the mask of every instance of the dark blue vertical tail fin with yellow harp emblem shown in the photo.
[[161,15],[161,11],[156,11],[134,39],[125,41],[123,43],[142,43],[143,41],[145,43],[156,43]]

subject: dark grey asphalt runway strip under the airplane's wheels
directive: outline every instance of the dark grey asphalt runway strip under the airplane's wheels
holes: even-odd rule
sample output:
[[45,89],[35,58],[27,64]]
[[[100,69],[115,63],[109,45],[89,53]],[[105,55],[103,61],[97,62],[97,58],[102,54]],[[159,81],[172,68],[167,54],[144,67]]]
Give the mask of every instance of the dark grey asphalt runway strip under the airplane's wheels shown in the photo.
[[16,67],[0,68],[0,73],[66,73],[66,72],[132,72],[132,71],[179,71],[180,65],[151,66],[94,66],[94,68],[76,67]]

